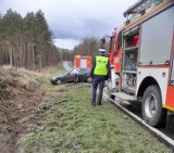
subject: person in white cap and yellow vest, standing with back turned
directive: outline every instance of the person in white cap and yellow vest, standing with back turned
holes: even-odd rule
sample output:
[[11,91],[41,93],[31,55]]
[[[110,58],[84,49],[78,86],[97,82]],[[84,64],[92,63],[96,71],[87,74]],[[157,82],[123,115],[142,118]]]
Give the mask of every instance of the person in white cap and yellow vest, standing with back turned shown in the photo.
[[99,49],[99,55],[92,62],[90,76],[92,78],[91,105],[96,105],[96,92],[99,85],[98,105],[101,105],[102,92],[105,80],[111,79],[111,67],[109,59],[105,56],[105,49]]

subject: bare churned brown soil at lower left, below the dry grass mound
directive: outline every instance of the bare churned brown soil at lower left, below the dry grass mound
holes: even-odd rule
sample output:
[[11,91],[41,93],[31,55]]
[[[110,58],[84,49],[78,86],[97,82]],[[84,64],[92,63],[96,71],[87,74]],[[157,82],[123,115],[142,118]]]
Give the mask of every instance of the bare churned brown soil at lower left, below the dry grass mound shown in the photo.
[[0,102],[0,153],[15,153],[17,138],[41,116],[38,104],[46,91],[11,90],[10,99]]

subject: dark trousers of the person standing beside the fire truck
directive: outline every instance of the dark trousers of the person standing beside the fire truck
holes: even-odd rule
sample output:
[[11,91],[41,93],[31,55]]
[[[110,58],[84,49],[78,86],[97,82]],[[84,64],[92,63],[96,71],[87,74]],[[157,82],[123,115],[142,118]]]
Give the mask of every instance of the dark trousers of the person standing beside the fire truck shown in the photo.
[[92,82],[91,104],[96,104],[96,94],[97,94],[98,85],[99,85],[98,104],[101,104],[104,84],[105,84],[105,80],[103,78],[95,77]]

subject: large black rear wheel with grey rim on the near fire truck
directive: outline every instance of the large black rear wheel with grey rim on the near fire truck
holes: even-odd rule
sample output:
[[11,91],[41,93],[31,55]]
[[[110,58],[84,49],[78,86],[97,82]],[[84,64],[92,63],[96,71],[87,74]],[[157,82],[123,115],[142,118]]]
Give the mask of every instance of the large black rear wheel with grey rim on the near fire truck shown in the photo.
[[152,127],[164,126],[166,110],[162,107],[161,92],[158,86],[149,86],[142,97],[142,118]]

